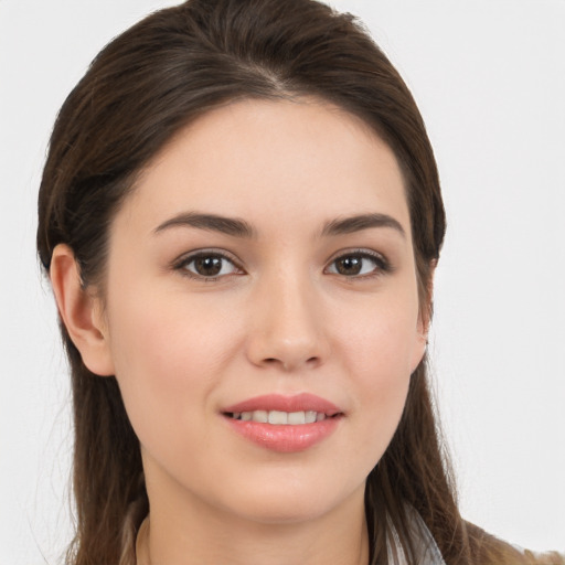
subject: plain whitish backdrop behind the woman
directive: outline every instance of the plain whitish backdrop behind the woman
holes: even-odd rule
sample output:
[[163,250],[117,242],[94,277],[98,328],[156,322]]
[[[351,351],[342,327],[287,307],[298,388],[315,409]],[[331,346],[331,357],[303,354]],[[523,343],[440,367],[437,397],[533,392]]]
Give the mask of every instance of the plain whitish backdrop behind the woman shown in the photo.
[[[55,114],[157,0],[0,0],[0,564],[57,564],[72,532],[67,374],[35,259]],[[565,1],[335,0],[426,120],[449,228],[434,387],[463,515],[565,550]],[[93,461],[96,465],[96,461]]]

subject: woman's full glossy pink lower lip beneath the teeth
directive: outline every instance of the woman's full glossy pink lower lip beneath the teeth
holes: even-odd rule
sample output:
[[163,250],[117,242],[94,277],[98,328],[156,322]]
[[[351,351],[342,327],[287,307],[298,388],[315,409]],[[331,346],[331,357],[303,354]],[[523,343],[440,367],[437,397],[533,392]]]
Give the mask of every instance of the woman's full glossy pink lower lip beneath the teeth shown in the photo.
[[322,419],[313,424],[274,425],[259,422],[246,422],[224,416],[232,429],[254,444],[278,451],[292,454],[305,451],[330,436],[337,428],[341,416]]

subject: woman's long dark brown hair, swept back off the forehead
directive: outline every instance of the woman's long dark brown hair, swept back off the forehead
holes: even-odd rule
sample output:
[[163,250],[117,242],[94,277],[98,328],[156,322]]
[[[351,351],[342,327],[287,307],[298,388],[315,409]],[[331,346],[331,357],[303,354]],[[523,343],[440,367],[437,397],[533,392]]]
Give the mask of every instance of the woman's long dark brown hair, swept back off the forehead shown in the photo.
[[[242,98],[316,96],[360,117],[393,149],[404,173],[419,285],[439,256],[445,214],[425,126],[405,83],[362,25],[313,0],[189,0],[153,13],[108,44],[64,103],[39,198],[38,248],[49,269],[67,244],[82,281],[104,286],[108,226],[136,175],[175,132]],[[62,324],[71,362],[76,536],[73,565],[134,564],[148,512],[138,440],[115,379],[84,365]],[[409,563],[414,509],[449,565],[470,546],[428,392],[426,361],[370,473],[371,563],[386,563],[391,524]]]

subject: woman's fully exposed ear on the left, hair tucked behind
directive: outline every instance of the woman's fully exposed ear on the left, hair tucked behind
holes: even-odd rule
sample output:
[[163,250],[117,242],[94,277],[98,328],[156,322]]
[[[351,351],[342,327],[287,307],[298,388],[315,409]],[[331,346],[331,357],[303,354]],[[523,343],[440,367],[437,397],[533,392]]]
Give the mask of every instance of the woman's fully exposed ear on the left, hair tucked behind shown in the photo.
[[97,375],[113,375],[100,299],[83,287],[74,253],[67,245],[60,244],[53,250],[50,277],[58,315],[84,364]]

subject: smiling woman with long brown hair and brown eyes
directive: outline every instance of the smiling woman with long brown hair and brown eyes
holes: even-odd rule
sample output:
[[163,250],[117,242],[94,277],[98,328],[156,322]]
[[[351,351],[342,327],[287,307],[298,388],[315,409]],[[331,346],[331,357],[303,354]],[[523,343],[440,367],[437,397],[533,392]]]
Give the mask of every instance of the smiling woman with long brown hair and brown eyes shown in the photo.
[[452,494],[425,365],[444,232],[419,113],[351,18],[189,1],[111,42],[40,192],[70,563],[533,563]]

